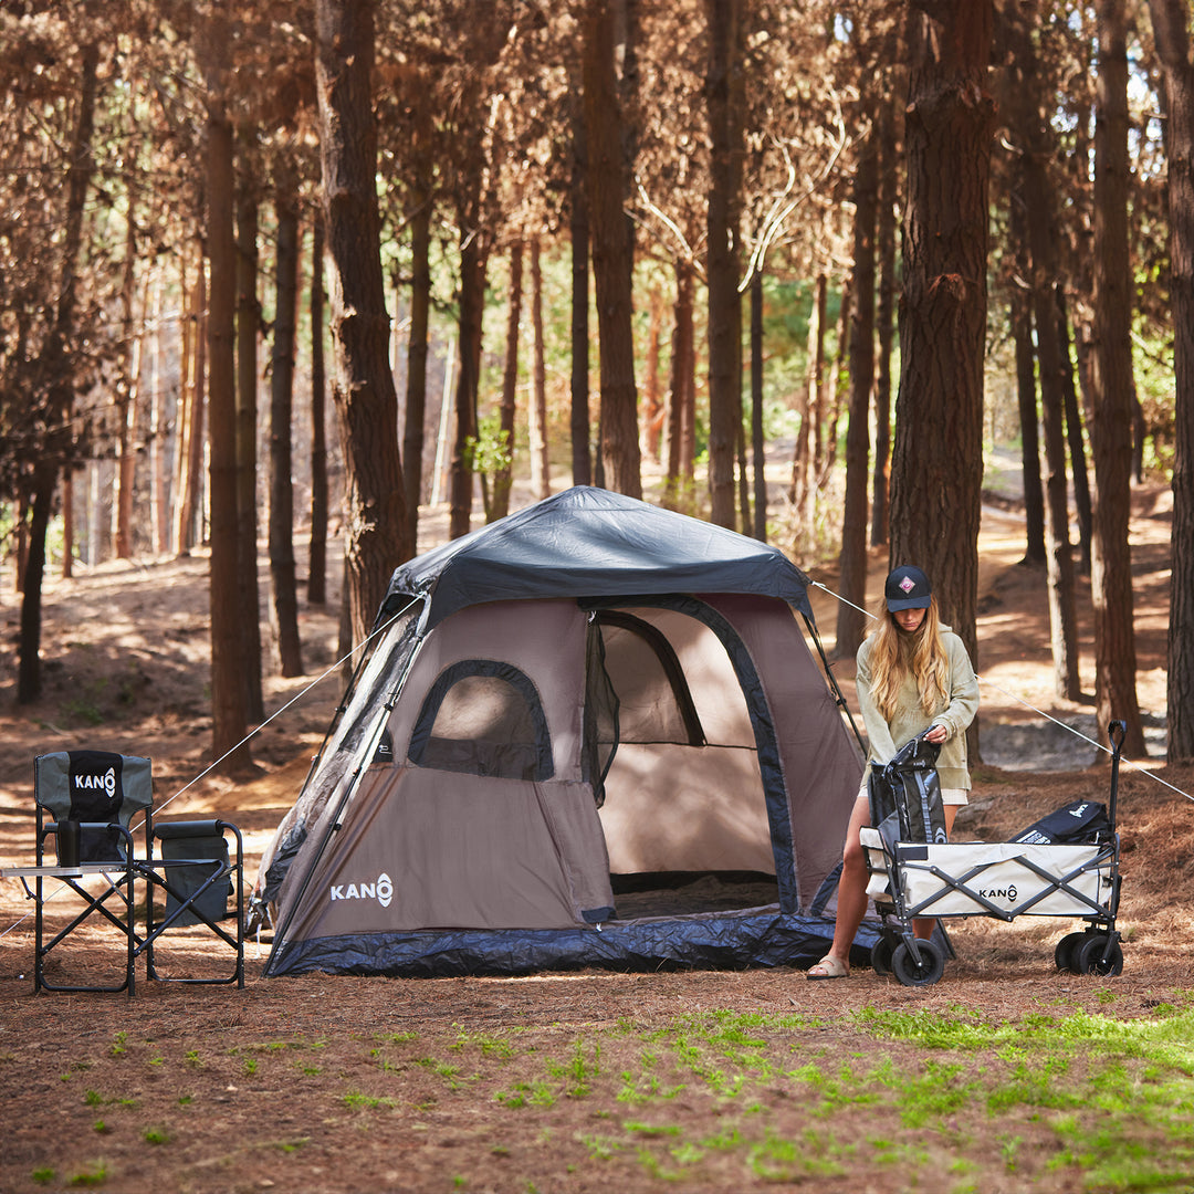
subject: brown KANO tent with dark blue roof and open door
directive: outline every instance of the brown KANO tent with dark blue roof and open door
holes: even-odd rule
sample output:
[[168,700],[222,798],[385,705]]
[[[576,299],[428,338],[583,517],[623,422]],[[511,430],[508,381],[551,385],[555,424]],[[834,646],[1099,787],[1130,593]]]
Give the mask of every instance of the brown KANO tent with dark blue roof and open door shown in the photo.
[[862,755],[807,585],[584,486],[399,567],[261,862],[265,973],[819,958]]

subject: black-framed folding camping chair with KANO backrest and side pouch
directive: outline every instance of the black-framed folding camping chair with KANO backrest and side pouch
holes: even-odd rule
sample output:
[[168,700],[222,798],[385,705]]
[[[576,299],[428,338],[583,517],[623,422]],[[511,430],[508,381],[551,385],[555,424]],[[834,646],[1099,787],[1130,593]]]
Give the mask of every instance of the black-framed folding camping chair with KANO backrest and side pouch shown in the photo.
[[[223,820],[153,823],[153,775],[148,758],[107,751],[60,751],[41,755],[33,764],[33,800],[37,811],[37,863],[6,869],[19,878],[35,901],[33,990],[135,991],[135,962],[144,954],[148,977],[161,981],[245,985],[242,923],[244,844],[235,825]],[[143,817],[146,855],[136,857],[133,821]],[[235,842],[235,861],[226,833]],[[47,856],[54,836],[56,857]],[[153,854],[161,843],[161,855]],[[33,880],[30,890],[29,879]],[[62,891],[73,893],[72,919],[48,935],[47,879],[60,879]],[[146,884],[146,934],[136,925],[135,887]],[[100,890],[97,890],[97,885]],[[166,907],[155,919],[155,892],[165,894]],[[235,931],[219,921],[227,912],[228,896],[235,894]],[[54,981],[47,977],[47,959],[85,923],[104,921],[115,927],[124,949],[123,979],[118,984]],[[230,974],[217,978],[166,977],[158,973],[154,949],[162,934],[186,924],[203,924],[235,950]],[[56,959],[57,960],[57,959]]]

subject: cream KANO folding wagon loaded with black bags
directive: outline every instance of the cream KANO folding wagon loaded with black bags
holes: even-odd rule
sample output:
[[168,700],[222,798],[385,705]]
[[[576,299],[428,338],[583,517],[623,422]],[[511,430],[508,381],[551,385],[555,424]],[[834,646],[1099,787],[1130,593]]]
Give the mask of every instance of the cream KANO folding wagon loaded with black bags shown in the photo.
[[1021,916],[1081,918],[1085,928],[1058,942],[1058,970],[1119,974],[1115,929],[1120,842],[1115,829],[1120,750],[1126,725],[1113,721],[1108,805],[1077,801],[1011,842],[948,842],[940,810],[936,750],[913,739],[870,786],[872,827],[861,839],[870,874],[867,893],[884,921],[872,965],[905,986],[941,978],[946,949],[918,938],[917,918]]

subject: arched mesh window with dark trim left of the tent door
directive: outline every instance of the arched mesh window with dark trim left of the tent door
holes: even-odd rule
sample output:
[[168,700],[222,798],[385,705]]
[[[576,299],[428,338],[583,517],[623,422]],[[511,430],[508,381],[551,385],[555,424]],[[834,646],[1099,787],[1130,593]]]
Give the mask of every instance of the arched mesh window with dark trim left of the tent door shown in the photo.
[[549,780],[547,718],[525,672],[492,659],[444,669],[411,736],[411,762],[503,780]]

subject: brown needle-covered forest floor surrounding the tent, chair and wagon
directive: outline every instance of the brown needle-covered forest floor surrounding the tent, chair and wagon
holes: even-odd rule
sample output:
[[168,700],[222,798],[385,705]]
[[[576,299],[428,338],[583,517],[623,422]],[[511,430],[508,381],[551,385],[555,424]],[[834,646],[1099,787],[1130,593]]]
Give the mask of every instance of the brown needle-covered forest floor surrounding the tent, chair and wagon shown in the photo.
[[[1132,523],[1139,694],[1153,743],[1159,741],[1165,697],[1165,499],[1162,490],[1138,492]],[[1108,787],[1106,762],[1091,765],[1093,747],[1034,712],[1046,710],[1089,733],[1091,704],[1052,696],[1045,578],[1018,565],[1021,535],[1014,511],[985,512],[978,661],[985,763],[975,770],[974,799],[959,818],[959,831],[990,841],[1070,799],[1103,799]],[[873,554],[872,595],[885,564],[885,553]],[[32,860],[33,756],[94,745],[152,756],[158,802],[170,800],[172,816],[215,813],[236,821],[246,833],[248,876],[256,875],[256,857],[297,793],[339,696],[339,679],[324,681],[254,740],[260,774],[252,782],[204,776],[192,783],[205,767],[210,736],[205,574],[205,558],[196,556],[80,570],[76,579],[53,584],[45,604],[47,695],[36,709],[19,714],[11,683],[19,607],[5,592],[5,864]],[[814,570],[814,578],[833,586],[831,570]],[[816,605],[831,639],[832,598],[818,591]],[[1089,688],[1085,585],[1079,608],[1082,677]],[[271,709],[333,663],[334,617],[304,610],[302,629],[308,676],[269,679]],[[841,676],[849,690],[849,665],[841,666]],[[1159,747],[1153,745],[1153,752],[1159,755]],[[794,1188],[814,1177],[823,1189],[886,1194],[955,1188],[948,1175],[956,1173],[962,1153],[983,1180],[960,1188],[1082,1189],[1081,1167],[1050,1169],[1033,1161],[1044,1130],[1030,1119],[1017,1130],[1022,1162],[1013,1174],[999,1159],[1009,1147],[1002,1127],[979,1120],[959,1125],[944,1113],[934,1131],[907,1145],[915,1156],[907,1165],[868,1164],[845,1149],[837,1169],[810,1169],[806,1158],[804,1168],[780,1173],[746,1165],[732,1149],[715,1162],[721,1153],[706,1149],[704,1161],[685,1171],[684,1158],[673,1150],[669,1175],[660,1161],[669,1155],[658,1144],[664,1133],[675,1130],[707,1140],[719,1125],[727,1131],[732,1125],[749,1134],[750,1115],[736,1119],[725,1097],[690,1091],[671,1102],[669,1125],[630,1122],[633,1109],[615,1097],[614,1081],[629,1064],[628,1026],[641,1050],[644,1036],[675,1032],[684,1017],[796,1017],[769,1032],[790,1038],[790,1050],[806,1061],[832,1070],[873,1054],[873,1039],[858,1029],[857,1014],[866,1009],[1018,1022],[1059,1008],[1135,1018],[1175,996],[1188,1002],[1194,989],[1194,805],[1181,793],[1192,790],[1194,769],[1167,769],[1159,758],[1125,763],[1120,927],[1126,962],[1120,978],[1106,979],[1054,970],[1053,944],[1072,922],[1039,918],[1026,927],[1023,918],[1010,925],[954,922],[958,959],[928,989],[905,989],[868,970],[842,983],[806,983],[789,970],[265,980],[265,947],[251,942],[244,991],[142,978],[134,999],[33,997],[31,905],[19,884],[0,882],[0,1194],[84,1184],[128,1192],[695,1190]],[[223,962],[198,937],[179,934],[177,940],[183,960],[201,972]],[[110,938],[82,942],[72,965],[80,974],[109,974],[112,956]],[[504,1050],[512,1034],[521,1052],[511,1060]],[[605,1042],[601,1066],[578,1053],[577,1042],[592,1034]],[[559,1078],[567,1097],[531,1098],[534,1113],[517,1109],[510,1097],[519,1067],[531,1057],[548,1059],[544,1072],[558,1078],[572,1073]],[[897,1069],[925,1064],[899,1041],[884,1046],[882,1059]],[[981,1069],[995,1060],[975,1064]],[[608,1082],[595,1082],[589,1090],[577,1077],[586,1064],[590,1076],[601,1069]],[[523,1077],[523,1089],[541,1089],[529,1071]],[[780,1078],[763,1084],[761,1107],[750,1110],[765,1118],[768,1139],[807,1140],[824,1122],[824,1110],[813,1108],[796,1085]],[[621,1144],[610,1144],[615,1122]],[[836,1108],[832,1125],[843,1141],[873,1141],[901,1131],[894,1112],[885,1120],[864,1106]]]

